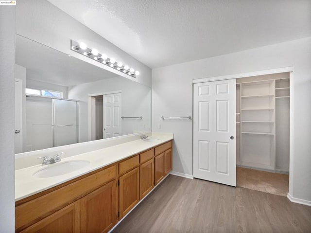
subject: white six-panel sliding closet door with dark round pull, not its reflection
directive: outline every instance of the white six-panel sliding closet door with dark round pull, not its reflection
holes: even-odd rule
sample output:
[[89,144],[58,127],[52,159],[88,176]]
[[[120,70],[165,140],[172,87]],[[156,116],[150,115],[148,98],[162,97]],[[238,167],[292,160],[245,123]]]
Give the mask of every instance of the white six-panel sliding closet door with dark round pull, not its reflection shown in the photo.
[[236,80],[193,85],[193,177],[236,186]]

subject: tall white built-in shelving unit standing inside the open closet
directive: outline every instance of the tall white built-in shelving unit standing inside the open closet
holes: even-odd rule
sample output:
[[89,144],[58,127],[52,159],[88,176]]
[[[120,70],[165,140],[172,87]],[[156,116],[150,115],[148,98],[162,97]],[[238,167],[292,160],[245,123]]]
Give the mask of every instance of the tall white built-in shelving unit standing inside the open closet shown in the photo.
[[244,82],[239,86],[239,163],[275,170],[275,80]]

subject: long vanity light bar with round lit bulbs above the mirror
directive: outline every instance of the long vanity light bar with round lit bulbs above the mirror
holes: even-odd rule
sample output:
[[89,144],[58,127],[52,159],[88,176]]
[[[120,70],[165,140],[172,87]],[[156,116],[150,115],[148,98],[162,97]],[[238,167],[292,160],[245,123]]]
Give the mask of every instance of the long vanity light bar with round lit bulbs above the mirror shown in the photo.
[[136,77],[139,75],[139,71],[135,71],[133,68],[130,69],[127,65],[123,66],[123,63],[121,61],[117,62],[114,58],[108,58],[106,54],[100,54],[97,49],[87,48],[86,43],[84,42],[78,43],[74,40],[71,40],[70,48],[74,52],[83,54],[91,59],[94,59],[95,61],[103,63],[106,66],[110,66],[118,71],[124,72],[131,77]]

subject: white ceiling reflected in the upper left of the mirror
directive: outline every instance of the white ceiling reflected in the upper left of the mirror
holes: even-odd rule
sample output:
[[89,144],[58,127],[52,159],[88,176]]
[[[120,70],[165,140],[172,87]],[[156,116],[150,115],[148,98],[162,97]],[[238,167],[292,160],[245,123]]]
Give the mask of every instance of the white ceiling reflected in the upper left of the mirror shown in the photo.
[[27,67],[27,78],[62,86],[75,86],[118,76],[18,35],[16,64]]

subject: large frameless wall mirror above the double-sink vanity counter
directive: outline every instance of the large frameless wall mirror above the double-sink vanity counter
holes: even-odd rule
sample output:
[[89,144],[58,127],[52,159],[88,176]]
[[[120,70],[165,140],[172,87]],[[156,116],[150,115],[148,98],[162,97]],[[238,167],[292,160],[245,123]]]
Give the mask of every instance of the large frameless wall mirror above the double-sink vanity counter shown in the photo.
[[16,153],[151,131],[151,90],[16,36]]

